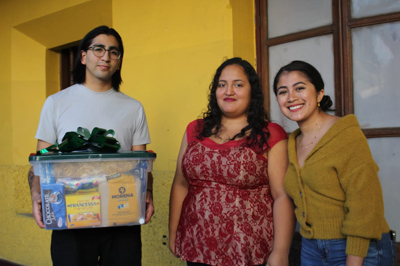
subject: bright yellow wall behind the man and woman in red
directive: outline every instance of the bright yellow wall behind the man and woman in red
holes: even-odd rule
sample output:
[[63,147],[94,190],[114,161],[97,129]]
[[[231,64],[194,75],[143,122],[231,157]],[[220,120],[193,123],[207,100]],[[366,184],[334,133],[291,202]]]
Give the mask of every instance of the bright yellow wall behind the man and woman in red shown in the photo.
[[224,57],[255,65],[254,1],[13,0],[0,1],[0,14],[0,258],[51,265],[51,231],[29,216],[26,181],[41,106],[58,90],[58,54],[49,49],[106,24],[122,36],[121,90],[144,105],[148,149],[157,153],[156,214],[142,227],[143,265],[184,265],[162,243],[180,141],[206,108],[208,85]]

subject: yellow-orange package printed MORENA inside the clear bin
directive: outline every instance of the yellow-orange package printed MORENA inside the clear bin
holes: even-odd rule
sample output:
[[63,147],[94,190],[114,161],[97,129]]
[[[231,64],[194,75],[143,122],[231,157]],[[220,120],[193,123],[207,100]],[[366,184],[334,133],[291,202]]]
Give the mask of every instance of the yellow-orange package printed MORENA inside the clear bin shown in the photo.
[[134,177],[122,175],[108,181],[108,223],[110,226],[138,223],[139,205]]

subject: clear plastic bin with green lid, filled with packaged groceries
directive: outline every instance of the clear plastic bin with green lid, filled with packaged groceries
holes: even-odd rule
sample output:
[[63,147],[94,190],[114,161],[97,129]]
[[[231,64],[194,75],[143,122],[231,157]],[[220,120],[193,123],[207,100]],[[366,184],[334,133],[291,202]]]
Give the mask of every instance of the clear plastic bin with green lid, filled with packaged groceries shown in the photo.
[[144,224],[156,154],[72,152],[30,156],[48,230]]

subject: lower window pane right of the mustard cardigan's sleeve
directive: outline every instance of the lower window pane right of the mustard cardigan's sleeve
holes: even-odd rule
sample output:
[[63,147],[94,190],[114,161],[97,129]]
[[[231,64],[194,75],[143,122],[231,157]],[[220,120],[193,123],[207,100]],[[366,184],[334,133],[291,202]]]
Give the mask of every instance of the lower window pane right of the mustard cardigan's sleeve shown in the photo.
[[369,138],[372,157],[379,166],[379,179],[385,203],[385,217],[389,226],[400,231],[400,137]]

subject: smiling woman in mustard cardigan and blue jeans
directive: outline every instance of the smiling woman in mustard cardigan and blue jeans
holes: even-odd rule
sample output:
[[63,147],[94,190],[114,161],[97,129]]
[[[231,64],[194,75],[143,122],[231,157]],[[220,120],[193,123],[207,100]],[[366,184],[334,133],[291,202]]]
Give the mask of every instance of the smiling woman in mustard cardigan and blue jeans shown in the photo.
[[293,61],[274,79],[281,112],[299,128],[289,138],[284,184],[296,205],[301,265],[394,266],[378,166],[354,115],[327,114],[332,100],[310,64]]

